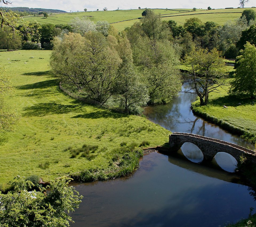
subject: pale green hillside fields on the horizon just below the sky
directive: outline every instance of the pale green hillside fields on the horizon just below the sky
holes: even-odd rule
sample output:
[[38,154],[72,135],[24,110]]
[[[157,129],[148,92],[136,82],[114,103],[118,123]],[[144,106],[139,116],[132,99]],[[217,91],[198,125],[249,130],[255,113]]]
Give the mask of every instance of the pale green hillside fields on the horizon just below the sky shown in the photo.
[[[256,11],[256,8],[250,8]],[[160,13],[163,20],[175,20],[178,24],[184,24],[186,19],[191,17],[197,17],[202,20],[202,22],[214,21],[218,24],[225,24],[229,20],[234,20],[241,16],[244,9],[215,9],[215,10],[205,10],[197,9],[192,11],[192,9],[153,9],[155,13]],[[52,14],[48,18],[43,16],[26,16],[23,17],[24,21],[34,21],[37,20],[40,24],[53,23],[53,24],[67,24],[71,19],[75,17],[88,17],[92,21],[106,20],[109,23],[114,23],[113,26],[122,31],[126,27],[130,27],[136,21],[139,21],[141,13],[144,9],[138,10],[115,10],[115,11],[90,11],[90,12],[73,12],[64,14]],[[135,19],[135,20],[130,20]],[[121,22],[123,20],[128,20]]]

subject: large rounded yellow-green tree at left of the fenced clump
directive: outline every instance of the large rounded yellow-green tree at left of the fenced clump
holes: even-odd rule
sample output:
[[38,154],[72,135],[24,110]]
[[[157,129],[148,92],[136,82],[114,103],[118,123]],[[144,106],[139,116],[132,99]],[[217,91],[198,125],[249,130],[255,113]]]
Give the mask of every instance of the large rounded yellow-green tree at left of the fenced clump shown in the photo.
[[77,33],[55,39],[50,65],[55,76],[69,83],[82,95],[105,103],[118,77],[121,59],[115,49],[108,47],[106,37],[99,32]]

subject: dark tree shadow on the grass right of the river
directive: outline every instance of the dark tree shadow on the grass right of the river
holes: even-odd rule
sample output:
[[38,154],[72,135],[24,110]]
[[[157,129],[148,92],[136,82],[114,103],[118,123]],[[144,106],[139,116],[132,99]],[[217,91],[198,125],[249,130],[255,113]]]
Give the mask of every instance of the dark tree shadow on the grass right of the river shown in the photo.
[[238,103],[241,103],[242,105],[251,104],[253,100],[245,98],[245,97],[237,97],[233,95],[225,95],[216,99],[212,99],[209,101],[209,104],[215,105],[215,106],[232,106],[236,107],[238,106]]

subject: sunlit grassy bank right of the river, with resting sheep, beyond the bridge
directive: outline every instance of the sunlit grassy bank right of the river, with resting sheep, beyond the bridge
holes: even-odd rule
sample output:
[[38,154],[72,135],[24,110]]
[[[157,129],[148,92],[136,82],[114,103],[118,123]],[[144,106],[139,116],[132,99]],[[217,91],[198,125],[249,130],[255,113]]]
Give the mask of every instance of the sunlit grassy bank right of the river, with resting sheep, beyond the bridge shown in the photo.
[[[256,100],[229,96],[225,86],[220,93],[210,93],[207,106],[199,106],[199,100],[192,104],[193,112],[231,132],[243,135],[256,143]],[[241,103],[241,105],[239,104]],[[228,108],[223,108],[227,106]]]

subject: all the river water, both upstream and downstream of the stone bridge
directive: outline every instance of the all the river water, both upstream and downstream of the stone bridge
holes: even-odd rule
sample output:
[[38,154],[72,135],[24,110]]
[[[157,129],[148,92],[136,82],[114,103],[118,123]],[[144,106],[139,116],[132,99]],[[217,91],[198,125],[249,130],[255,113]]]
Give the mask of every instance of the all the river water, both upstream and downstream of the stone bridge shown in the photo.
[[[184,83],[182,90],[190,84]],[[180,93],[168,105],[146,107],[149,120],[172,132],[187,132],[253,148],[219,127],[196,117],[190,110],[196,96]],[[71,226],[225,226],[256,208],[247,186],[235,173],[198,163],[191,144],[175,155],[145,155],[133,175],[102,182],[73,184],[83,195],[72,213]],[[185,156],[187,156],[189,161]],[[231,163],[231,164],[230,164]],[[221,166],[232,169],[232,160]],[[215,167],[215,168],[213,168]]]

